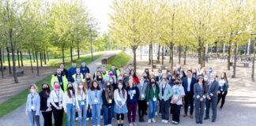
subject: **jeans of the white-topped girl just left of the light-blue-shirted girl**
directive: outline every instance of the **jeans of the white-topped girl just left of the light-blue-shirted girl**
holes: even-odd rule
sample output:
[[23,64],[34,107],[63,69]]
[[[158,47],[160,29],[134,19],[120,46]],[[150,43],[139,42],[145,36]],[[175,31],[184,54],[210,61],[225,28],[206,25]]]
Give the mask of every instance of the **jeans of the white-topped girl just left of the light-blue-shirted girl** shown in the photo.
[[85,105],[81,105],[81,101],[78,101],[78,106],[81,110],[80,112],[78,112],[78,126],[81,126],[82,117],[83,117],[83,126],[86,125],[86,114],[87,114],[86,103],[87,101],[85,100]]

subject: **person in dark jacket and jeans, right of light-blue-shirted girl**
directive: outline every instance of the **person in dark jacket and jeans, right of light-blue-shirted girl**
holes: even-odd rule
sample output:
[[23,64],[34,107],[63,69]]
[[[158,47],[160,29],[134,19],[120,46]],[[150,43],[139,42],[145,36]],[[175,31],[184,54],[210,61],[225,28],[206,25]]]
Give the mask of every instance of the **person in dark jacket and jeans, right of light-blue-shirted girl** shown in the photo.
[[105,90],[102,92],[104,125],[111,125],[111,120],[114,114],[114,91],[109,81],[105,83],[105,85]]

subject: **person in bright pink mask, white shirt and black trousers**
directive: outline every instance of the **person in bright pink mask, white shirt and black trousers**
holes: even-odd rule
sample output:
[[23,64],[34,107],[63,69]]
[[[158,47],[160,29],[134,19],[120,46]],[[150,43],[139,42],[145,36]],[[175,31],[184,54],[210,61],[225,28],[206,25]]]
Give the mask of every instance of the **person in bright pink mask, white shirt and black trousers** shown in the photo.
[[52,112],[55,118],[55,126],[62,126],[63,118],[63,106],[62,106],[62,96],[63,91],[59,89],[59,83],[54,83],[55,90],[51,91],[51,106]]

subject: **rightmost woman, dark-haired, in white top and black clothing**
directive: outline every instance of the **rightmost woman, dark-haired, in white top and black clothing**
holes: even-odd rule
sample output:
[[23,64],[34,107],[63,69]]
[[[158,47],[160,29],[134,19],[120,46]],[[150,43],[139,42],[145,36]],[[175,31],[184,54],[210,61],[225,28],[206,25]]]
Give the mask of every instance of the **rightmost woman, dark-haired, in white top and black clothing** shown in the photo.
[[219,104],[220,99],[222,98],[220,110],[224,106],[225,98],[227,94],[228,94],[228,78],[227,78],[226,72],[222,72],[219,80],[219,91],[218,91],[218,102],[217,102],[217,104]]

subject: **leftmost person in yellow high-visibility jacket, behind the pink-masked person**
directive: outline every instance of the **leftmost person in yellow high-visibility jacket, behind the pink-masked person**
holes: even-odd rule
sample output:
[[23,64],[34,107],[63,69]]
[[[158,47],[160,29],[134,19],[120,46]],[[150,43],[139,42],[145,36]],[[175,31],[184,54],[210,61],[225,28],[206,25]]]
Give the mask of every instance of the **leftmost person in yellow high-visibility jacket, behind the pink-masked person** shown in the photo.
[[66,91],[68,80],[62,75],[62,69],[57,69],[56,74],[51,76],[51,87],[55,89],[55,82],[58,82],[62,91]]

